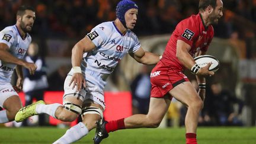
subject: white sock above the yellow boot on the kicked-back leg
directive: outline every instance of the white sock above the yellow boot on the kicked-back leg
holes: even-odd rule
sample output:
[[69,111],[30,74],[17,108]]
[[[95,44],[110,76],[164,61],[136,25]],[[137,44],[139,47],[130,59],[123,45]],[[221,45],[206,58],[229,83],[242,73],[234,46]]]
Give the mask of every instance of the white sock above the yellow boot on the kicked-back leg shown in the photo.
[[46,113],[50,116],[55,117],[55,112],[57,110],[57,107],[62,106],[61,104],[55,103],[55,104],[39,104],[36,106],[36,112],[38,114]]

